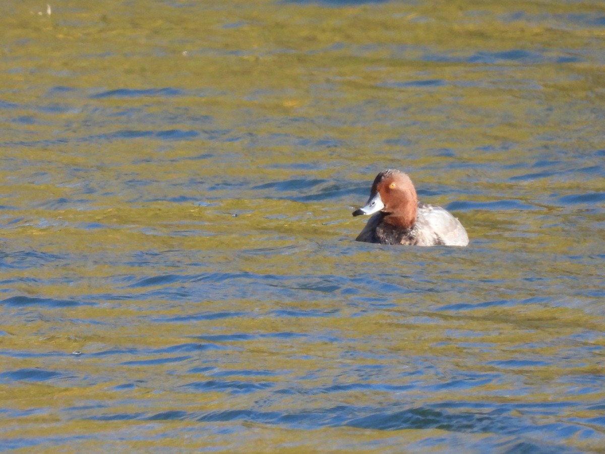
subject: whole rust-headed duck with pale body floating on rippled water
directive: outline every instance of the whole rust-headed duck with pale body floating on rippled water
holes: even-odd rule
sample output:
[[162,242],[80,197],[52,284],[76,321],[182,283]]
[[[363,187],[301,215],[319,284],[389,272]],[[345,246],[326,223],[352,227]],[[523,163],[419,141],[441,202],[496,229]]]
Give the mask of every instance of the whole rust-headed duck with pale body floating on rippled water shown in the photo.
[[355,239],[366,243],[410,246],[467,246],[468,234],[445,208],[418,202],[410,177],[396,169],[379,173],[367,203],[353,216],[372,214]]

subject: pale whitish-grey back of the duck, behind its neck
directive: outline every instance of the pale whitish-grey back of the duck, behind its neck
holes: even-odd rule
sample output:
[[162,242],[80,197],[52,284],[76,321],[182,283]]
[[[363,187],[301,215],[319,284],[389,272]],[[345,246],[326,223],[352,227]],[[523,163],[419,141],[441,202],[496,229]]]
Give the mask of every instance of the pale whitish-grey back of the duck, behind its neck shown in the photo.
[[451,212],[440,206],[418,203],[416,235],[420,246],[466,246],[465,228]]

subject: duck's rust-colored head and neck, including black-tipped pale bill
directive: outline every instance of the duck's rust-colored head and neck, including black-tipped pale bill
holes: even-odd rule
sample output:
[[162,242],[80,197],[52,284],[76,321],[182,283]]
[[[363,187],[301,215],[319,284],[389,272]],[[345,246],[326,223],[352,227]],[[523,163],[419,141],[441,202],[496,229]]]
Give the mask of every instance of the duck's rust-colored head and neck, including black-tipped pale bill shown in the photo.
[[353,216],[382,211],[384,222],[409,229],[416,222],[417,208],[418,196],[410,177],[399,170],[387,169],[376,176],[368,202],[353,211]]

